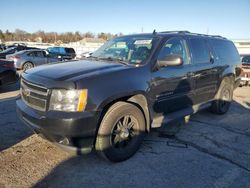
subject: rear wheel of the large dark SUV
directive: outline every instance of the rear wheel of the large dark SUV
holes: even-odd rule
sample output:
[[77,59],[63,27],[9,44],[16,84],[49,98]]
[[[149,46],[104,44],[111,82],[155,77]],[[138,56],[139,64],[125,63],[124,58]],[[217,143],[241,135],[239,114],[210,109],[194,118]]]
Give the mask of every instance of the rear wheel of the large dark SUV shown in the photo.
[[224,79],[221,82],[217,96],[211,105],[213,113],[225,114],[229,110],[233,98],[233,87],[230,79]]

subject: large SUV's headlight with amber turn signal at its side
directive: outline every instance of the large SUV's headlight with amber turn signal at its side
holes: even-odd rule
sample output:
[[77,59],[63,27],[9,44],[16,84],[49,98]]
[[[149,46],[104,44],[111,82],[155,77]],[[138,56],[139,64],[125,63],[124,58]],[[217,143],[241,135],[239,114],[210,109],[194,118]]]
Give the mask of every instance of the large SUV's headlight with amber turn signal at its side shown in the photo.
[[82,112],[87,105],[88,90],[52,90],[49,110]]

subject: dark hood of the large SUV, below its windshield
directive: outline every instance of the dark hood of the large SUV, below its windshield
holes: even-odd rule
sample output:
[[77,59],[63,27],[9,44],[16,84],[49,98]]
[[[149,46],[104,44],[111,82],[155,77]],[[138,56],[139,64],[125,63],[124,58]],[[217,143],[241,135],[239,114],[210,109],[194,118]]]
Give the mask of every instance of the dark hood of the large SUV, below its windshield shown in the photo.
[[54,81],[75,81],[75,79],[126,69],[127,67],[126,65],[112,62],[83,60],[39,66],[28,70],[27,74]]

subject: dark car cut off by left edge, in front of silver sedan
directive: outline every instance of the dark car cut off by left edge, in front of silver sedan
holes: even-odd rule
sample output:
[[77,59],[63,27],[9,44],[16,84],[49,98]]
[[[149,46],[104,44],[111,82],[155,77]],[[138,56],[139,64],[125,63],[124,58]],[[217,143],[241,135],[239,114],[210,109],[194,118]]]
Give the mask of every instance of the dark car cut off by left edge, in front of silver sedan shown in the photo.
[[14,62],[0,59],[0,86],[15,83],[18,78]]

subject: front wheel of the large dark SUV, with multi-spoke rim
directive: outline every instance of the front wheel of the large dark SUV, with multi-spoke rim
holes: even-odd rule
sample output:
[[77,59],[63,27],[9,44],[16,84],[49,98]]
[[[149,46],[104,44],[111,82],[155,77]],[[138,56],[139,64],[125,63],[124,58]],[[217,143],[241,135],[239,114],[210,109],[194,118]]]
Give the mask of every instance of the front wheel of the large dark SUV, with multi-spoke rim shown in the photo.
[[102,119],[95,149],[110,161],[124,161],[136,153],[144,135],[145,118],[142,111],[133,104],[117,102]]

